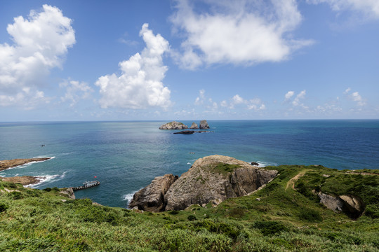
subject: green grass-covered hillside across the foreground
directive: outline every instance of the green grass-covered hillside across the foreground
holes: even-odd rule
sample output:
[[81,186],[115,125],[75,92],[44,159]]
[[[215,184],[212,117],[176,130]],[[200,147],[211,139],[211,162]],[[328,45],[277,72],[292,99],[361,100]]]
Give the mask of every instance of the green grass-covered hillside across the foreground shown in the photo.
[[[377,171],[267,169],[279,175],[250,196],[162,213],[0,182],[0,251],[379,251]],[[353,221],[318,192],[356,195],[366,211]]]

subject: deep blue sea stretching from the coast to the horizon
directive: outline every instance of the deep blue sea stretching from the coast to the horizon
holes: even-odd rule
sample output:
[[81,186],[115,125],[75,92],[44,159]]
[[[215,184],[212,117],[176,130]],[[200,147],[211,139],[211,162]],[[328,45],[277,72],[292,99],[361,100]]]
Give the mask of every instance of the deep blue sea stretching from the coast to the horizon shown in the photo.
[[0,160],[54,157],[0,176],[46,176],[34,186],[40,189],[81,186],[97,176],[100,186],[77,191],[77,198],[127,207],[154,177],[180,175],[213,154],[261,166],[379,168],[379,120],[208,120],[213,132],[192,135],[159,130],[164,123],[0,123]]

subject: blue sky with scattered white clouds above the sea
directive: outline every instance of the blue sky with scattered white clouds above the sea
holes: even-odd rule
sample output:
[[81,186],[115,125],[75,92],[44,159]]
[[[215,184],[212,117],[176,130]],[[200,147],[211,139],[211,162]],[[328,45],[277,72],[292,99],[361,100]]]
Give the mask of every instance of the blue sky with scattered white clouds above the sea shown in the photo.
[[0,1],[0,121],[379,118],[379,2]]

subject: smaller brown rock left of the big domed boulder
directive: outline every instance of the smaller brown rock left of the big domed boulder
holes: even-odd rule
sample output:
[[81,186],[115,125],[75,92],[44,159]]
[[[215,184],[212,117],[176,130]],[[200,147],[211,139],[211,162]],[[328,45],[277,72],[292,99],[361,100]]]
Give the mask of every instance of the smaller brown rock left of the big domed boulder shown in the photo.
[[177,179],[178,176],[173,176],[173,174],[156,177],[149,186],[133,195],[129,207],[131,209],[138,207],[139,210],[145,211],[163,211],[164,195]]

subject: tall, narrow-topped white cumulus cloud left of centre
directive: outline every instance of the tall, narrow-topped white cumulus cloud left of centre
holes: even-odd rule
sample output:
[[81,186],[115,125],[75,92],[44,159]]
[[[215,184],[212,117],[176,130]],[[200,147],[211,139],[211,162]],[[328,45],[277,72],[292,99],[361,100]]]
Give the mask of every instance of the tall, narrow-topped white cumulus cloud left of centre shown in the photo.
[[149,106],[171,106],[168,87],[162,80],[168,69],[163,63],[164,52],[170,48],[161,34],[154,35],[148,24],[142,25],[140,36],[146,43],[141,53],[119,62],[121,75],[101,76],[95,85],[100,87],[102,108],[120,107],[145,109]]

